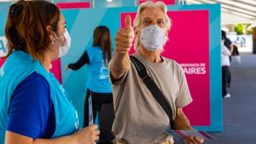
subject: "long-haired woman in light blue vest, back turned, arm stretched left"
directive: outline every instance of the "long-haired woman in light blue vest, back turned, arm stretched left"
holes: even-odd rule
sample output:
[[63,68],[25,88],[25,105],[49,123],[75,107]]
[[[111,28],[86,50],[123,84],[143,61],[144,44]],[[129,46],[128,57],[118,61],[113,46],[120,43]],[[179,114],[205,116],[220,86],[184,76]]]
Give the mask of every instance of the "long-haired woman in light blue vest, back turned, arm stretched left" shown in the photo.
[[106,26],[98,26],[93,32],[93,47],[85,50],[76,63],[66,65],[66,71],[80,69],[86,63],[89,66],[83,127],[89,124],[89,96],[92,98],[93,119],[95,119],[97,111],[100,114],[103,103],[113,103],[112,87],[108,76],[108,62],[110,62],[111,56],[110,30]]

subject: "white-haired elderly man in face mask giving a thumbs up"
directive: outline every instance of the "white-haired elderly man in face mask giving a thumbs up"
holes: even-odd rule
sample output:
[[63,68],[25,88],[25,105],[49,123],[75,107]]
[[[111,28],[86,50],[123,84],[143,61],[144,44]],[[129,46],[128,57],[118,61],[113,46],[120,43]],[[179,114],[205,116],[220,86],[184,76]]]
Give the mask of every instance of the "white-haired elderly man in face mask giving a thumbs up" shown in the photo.
[[[116,50],[109,64],[116,113],[112,127],[115,143],[173,143],[173,137],[164,132],[171,128],[171,123],[175,130],[192,130],[182,112],[182,107],[192,101],[182,67],[160,55],[170,27],[165,4],[145,2],[139,6],[134,26],[127,16],[125,28],[117,31]],[[129,58],[135,35],[137,52],[133,56],[143,63],[161,91],[172,114],[171,120]],[[184,143],[203,143],[203,139],[188,137]]]

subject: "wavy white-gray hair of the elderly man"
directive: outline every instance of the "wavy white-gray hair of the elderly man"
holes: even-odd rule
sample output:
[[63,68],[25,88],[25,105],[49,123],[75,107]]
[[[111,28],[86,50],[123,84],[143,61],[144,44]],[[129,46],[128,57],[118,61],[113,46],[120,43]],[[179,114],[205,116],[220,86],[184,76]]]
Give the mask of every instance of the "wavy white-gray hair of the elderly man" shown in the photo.
[[[171,19],[169,18],[169,16],[167,16],[166,5],[161,1],[158,1],[156,3],[153,3],[152,1],[146,1],[144,3],[141,3],[137,10],[135,20],[133,21],[133,29],[135,29],[135,31],[139,30],[140,13],[142,12],[142,10],[146,9],[147,7],[158,7],[161,10],[163,10],[163,13],[165,14],[165,28],[166,28],[167,32],[169,32],[169,30],[171,29]],[[138,37],[135,38],[134,48],[137,52],[139,51],[139,38]],[[161,48],[160,48],[160,52],[162,52],[162,51],[163,51],[163,46],[161,46]]]

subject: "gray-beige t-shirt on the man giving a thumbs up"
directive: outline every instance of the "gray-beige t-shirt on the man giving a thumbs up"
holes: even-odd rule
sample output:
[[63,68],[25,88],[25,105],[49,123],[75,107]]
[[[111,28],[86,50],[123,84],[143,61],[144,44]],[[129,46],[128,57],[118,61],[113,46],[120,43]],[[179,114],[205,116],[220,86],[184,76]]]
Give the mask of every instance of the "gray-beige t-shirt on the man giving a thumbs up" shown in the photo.
[[[192,101],[182,67],[174,60],[163,57],[162,63],[154,63],[138,52],[133,56],[145,65],[148,75],[160,88],[173,110],[174,119],[176,108],[184,107]],[[110,76],[110,81],[113,84],[116,114],[112,132],[117,141],[156,144],[173,139],[164,132],[170,128],[167,114],[142,82],[132,62],[123,77],[114,80]]]

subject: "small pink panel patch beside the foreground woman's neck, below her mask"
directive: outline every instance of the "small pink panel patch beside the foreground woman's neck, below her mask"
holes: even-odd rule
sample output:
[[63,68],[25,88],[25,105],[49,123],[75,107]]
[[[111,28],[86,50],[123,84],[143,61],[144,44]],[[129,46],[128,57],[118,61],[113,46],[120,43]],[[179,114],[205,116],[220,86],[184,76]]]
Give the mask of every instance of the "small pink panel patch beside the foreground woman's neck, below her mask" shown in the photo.
[[61,75],[61,62],[60,58],[51,63],[50,71],[53,73],[54,77],[62,84],[62,75]]

